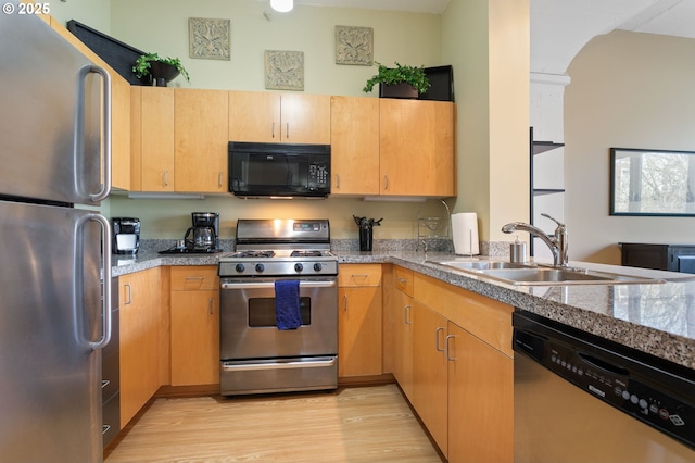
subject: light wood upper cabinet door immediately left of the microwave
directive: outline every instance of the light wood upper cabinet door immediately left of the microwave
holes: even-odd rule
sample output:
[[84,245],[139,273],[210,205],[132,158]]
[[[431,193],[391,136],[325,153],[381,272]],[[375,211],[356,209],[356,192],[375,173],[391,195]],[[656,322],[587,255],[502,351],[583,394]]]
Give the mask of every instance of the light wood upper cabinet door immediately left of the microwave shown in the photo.
[[226,192],[228,92],[177,88],[174,104],[177,191]]

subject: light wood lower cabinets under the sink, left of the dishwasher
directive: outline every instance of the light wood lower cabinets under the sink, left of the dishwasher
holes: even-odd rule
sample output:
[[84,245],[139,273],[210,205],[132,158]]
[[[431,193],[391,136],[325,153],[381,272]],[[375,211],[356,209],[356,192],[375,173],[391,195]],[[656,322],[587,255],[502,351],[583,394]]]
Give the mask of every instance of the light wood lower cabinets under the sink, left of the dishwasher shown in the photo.
[[513,308],[397,266],[394,275],[412,288],[394,290],[389,309],[401,389],[450,463],[513,463]]

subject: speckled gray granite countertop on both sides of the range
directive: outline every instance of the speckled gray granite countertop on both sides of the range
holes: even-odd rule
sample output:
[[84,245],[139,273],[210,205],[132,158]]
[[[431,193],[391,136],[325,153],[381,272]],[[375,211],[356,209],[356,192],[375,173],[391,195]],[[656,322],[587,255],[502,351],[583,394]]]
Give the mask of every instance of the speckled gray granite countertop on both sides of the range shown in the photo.
[[[393,263],[695,370],[695,276],[570,262],[596,271],[666,279],[647,285],[513,286],[427,262],[451,253],[338,251],[339,263]],[[219,255],[113,256],[113,276],[160,265],[216,265]],[[464,259],[464,258],[457,258]],[[473,258],[478,259],[478,258]],[[484,260],[485,258],[480,258]],[[495,258],[498,259],[498,258]]]

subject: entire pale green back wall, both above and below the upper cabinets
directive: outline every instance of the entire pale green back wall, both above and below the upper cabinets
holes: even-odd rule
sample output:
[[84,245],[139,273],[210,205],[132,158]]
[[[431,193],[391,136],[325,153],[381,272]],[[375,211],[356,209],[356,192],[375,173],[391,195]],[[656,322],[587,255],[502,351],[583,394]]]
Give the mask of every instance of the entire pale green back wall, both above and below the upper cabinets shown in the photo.
[[[267,2],[256,0],[117,0],[111,4],[112,36],[144,51],[181,59],[191,75],[191,87],[235,90],[264,89],[264,51],[304,52],[306,93],[365,96],[362,88],[376,73],[372,66],[337,65],[334,26],[374,28],[376,61],[399,61],[412,65],[441,65],[441,16],[376,10],[295,5],[291,13],[263,12]],[[191,59],[188,54],[188,18],[211,17],[231,21],[231,60]],[[188,87],[180,77],[174,86]],[[372,92],[376,97],[377,90]],[[200,200],[110,200],[112,216],[142,220],[143,238],[180,238],[190,225],[190,212],[220,213],[222,236],[233,236],[239,217],[321,217],[329,218],[334,238],[356,238],[352,215],[383,217],[375,238],[416,238],[416,218],[441,216],[439,201],[427,203],[364,202],[359,199],[329,198],[325,201],[240,200],[208,197]]]

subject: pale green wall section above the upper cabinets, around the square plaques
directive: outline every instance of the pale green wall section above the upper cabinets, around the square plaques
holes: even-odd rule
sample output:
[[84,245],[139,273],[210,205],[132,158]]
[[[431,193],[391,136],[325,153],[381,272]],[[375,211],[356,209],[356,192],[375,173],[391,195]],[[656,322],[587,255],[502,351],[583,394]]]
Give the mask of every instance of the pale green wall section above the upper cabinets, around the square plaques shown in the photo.
[[[304,52],[306,93],[365,96],[362,88],[376,67],[336,64],[337,25],[372,27],[374,57],[383,64],[445,64],[440,15],[296,4],[267,21],[264,11],[271,11],[268,2],[256,0],[117,0],[111,32],[140,50],[178,57],[194,88],[265,90],[264,51],[291,50]],[[189,58],[189,17],[230,20],[229,61]],[[188,86],[181,77],[173,85]]]

